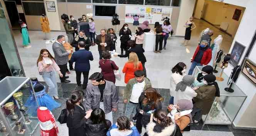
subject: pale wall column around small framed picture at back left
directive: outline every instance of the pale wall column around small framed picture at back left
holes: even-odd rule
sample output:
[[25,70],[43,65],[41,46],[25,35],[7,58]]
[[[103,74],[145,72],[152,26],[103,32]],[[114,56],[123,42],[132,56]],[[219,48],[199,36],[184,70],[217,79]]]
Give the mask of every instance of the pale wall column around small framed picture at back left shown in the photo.
[[48,20],[49,20],[50,30],[61,30],[57,0],[51,0],[52,2],[55,3],[56,12],[48,12],[47,11],[47,7],[46,7],[46,3],[45,3],[46,1],[49,1],[49,0],[44,0],[44,8],[45,8],[46,16],[48,17]]

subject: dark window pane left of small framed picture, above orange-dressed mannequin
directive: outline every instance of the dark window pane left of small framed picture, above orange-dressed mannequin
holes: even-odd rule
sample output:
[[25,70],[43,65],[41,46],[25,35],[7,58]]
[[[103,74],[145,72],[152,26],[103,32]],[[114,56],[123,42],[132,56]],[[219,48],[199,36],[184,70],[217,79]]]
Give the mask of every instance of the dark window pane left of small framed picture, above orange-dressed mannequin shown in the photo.
[[40,16],[45,14],[43,2],[22,2],[25,15]]

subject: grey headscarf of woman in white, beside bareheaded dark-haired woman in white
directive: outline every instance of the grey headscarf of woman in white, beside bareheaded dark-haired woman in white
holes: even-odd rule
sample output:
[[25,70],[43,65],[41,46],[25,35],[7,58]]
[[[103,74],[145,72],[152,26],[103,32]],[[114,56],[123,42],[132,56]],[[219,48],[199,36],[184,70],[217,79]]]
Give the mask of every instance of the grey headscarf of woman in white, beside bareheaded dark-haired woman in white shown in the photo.
[[176,85],[176,89],[175,91],[185,91],[187,86],[191,86],[191,84],[194,82],[194,77],[191,75],[185,75],[182,78],[182,81],[180,81],[177,85]]

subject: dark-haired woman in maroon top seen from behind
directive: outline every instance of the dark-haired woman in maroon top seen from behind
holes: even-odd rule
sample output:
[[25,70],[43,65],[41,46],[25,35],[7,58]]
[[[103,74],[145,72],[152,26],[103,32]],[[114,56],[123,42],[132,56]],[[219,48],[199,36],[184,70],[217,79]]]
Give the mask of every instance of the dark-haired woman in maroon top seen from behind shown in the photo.
[[99,66],[101,67],[101,73],[103,74],[104,80],[108,80],[116,83],[116,77],[114,70],[118,70],[115,62],[110,60],[111,54],[109,51],[102,52],[103,59],[99,60]]

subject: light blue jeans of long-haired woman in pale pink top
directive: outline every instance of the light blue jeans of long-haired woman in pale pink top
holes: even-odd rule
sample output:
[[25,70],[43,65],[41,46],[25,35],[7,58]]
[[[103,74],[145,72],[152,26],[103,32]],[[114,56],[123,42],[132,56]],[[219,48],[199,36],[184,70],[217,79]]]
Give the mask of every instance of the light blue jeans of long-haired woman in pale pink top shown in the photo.
[[58,96],[58,86],[55,71],[43,72],[43,79],[49,86],[48,94],[50,96]]

